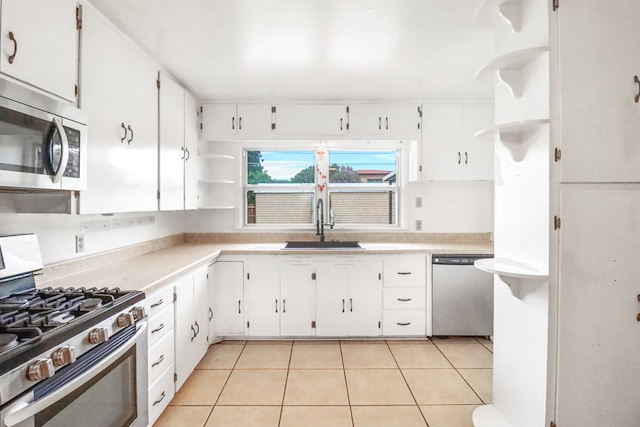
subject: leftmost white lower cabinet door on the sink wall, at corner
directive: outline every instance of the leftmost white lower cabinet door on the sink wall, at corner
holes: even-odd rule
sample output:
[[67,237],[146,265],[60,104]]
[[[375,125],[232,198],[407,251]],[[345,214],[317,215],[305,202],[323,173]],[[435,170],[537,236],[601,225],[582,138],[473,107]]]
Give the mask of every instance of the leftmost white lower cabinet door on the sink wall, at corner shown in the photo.
[[219,261],[211,267],[215,300],[216,335],[244,333],[244,265],[240,261]]

